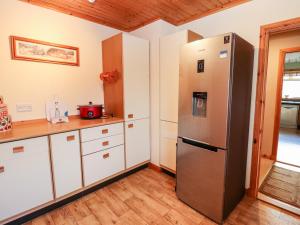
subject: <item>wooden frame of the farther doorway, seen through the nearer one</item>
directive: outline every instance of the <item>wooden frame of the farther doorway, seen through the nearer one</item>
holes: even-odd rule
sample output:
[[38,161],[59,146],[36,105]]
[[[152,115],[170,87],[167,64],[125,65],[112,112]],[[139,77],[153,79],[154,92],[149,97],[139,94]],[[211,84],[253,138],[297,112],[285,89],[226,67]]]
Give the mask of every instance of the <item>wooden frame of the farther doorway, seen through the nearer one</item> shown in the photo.
[[300,47],[281,49],[279,52],[279,66],[277,75],[277,91],[276,91],[276,108],[274,118],[274,131],[273,131],[273,147],[271,159],[277,159],[279,129],[280,129],[280,115],[281,115],[281,100],[282,100],[282,86],[284,75],[284,60],[287,53],[300,52]]

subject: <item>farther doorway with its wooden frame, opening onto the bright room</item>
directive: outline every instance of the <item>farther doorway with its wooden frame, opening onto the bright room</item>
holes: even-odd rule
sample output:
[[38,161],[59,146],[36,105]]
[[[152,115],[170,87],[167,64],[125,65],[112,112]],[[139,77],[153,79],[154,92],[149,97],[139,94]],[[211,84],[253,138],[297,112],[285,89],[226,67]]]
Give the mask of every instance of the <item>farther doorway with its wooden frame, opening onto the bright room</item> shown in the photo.
[[280,64],[272,157],[300,167],[300,45],[281,50]]

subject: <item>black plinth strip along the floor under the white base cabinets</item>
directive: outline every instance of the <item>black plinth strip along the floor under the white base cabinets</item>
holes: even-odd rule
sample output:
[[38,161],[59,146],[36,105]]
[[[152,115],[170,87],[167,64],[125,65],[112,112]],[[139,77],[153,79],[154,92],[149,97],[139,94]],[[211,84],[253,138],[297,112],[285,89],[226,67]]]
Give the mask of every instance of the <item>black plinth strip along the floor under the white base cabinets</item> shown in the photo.
[[77,194],[74,194],[74,195],[72,195],[70,197],[62,199],[61,201],[58,201],[58,202],[55,202],[55,203],[53,203],[51,205],[47,205],[45,207],[37,209],[36,211],[33,211],[33,212],[29,213],[29,214],[21,216],[21,217],[15,219],[15,220],[10,220],[7,223],[6,222],[4,222],[4,223],[0,222],[0,224],[4,224],[4,225],[19,225],[20,224],[21,225],[21,224],[26,223],[26,222],[28,222],[30,220],[33,220],[34,218],[37,218],[37,217],[41,216],[43,214],[46,214],[46,213],[48,213],[48,212],[50,212],[50,211],[52,211],[54,209],[57,209],[59,207],[62,207],[64,205],[70,203],[70,202],[73,202],[73,201],[75,201],[75,200],[77,200],[77,199],[79,199],[79,198],[81,198],[81,197],[83,197],[85,195],[88,195],[88,194],[90,194],[90,193],[92,193],[94,191],[97,191],[97,190],[99,190],[99,189],[101,189],[101,188],[103,188],[103,187],[105,187],[105,186],[107,186],[107,185],[109,185],[111,183],[114,183],[114,182],[116,182],[116,181],[118,181],[118,180],[120,180],[122,178],[125,178],[125,177],[127,177],[127,176],[129,176],[129,175],[131,175],[133,173],[136,173],[136,172],[138,172],[138,171],[140,171],[142,169],[145,169],[147,167],[148,167],[148,162],[146,162],[145,164],[139,165],[136,168],[132,168],[131,170],[128,170],[125,173],[117,175],[117,176],[115,176],[115,177],[113,177],[111,179],[105,180],[104,182],[101,182],[101,183],[99,183],[99,184],[97,184],[95,186],[92,186],[92,187],[90,187],[88,189],[85,189],[85,190],[83,190],[83,191],[81,191],[81,192],[79,192]]

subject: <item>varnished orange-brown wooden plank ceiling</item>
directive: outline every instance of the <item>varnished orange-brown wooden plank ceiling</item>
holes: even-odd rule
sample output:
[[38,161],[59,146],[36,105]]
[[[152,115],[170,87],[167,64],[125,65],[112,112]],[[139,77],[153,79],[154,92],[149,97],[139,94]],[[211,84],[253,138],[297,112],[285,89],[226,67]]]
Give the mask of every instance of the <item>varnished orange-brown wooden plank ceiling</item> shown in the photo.
[[123,31],[163,19],[181,25],[249,0],[21,0]]

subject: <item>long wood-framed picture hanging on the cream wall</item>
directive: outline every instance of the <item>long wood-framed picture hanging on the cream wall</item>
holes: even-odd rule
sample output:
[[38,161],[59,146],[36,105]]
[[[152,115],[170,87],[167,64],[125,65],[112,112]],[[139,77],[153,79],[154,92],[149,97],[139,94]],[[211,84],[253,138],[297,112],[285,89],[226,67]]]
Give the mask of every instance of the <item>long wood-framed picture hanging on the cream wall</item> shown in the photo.
[[12,59],[79,66],[79,48],[11,36]]

